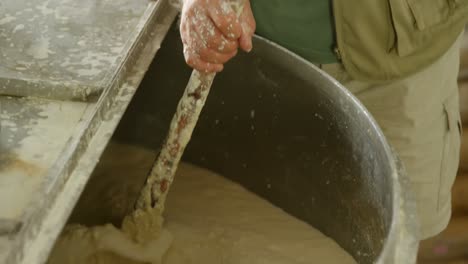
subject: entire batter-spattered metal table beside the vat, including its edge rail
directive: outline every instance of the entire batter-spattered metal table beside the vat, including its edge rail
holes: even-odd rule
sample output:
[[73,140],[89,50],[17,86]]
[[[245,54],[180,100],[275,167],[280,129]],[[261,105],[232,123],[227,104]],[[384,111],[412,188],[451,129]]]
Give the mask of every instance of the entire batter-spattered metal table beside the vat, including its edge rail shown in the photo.
[[177,15],[168,1],[0,3],[0,263],[43,263]]

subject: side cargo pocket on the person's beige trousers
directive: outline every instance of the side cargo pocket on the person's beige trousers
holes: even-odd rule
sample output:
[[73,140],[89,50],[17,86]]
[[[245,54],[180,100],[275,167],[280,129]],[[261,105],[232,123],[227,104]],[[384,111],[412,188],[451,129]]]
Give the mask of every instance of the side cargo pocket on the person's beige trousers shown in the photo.
[[[456,97],[455,99],[458,99]],[[458,103],[451,100],[444,104],[447,120],[447,130],[440,170],[440,185],[438,194],[438,209],[450,203],[451,190],[457,175],[461,146],[461,118]]]

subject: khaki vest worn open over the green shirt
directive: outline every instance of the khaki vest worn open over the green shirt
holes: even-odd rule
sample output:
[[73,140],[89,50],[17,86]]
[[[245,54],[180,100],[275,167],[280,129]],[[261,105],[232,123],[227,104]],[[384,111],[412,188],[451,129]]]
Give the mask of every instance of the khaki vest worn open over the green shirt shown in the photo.
[[444,54],[468,21],[468,0],[334,0],[338,53],[357,80],[408,76]]

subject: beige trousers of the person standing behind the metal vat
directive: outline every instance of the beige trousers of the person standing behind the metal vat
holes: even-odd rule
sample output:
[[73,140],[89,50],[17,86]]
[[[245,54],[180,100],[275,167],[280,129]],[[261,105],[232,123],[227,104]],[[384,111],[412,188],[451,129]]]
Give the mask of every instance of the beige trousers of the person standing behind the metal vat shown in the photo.
[[444,230],[451,216],[461,136],[460,43],[461,37],[432,65],[392,82],[353,80],[339,63],[320,66],[364,104],[402,159],[417,201],[421,240]]

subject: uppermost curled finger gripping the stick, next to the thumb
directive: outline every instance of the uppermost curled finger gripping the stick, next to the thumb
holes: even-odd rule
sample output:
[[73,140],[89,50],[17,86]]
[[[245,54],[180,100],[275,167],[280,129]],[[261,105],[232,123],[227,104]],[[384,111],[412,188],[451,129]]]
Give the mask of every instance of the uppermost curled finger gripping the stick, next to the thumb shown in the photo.
[[210,5],[208,14],[226,38],[237,40],[240,37],[242,28],[228,1],[221,1],[221,4]]

